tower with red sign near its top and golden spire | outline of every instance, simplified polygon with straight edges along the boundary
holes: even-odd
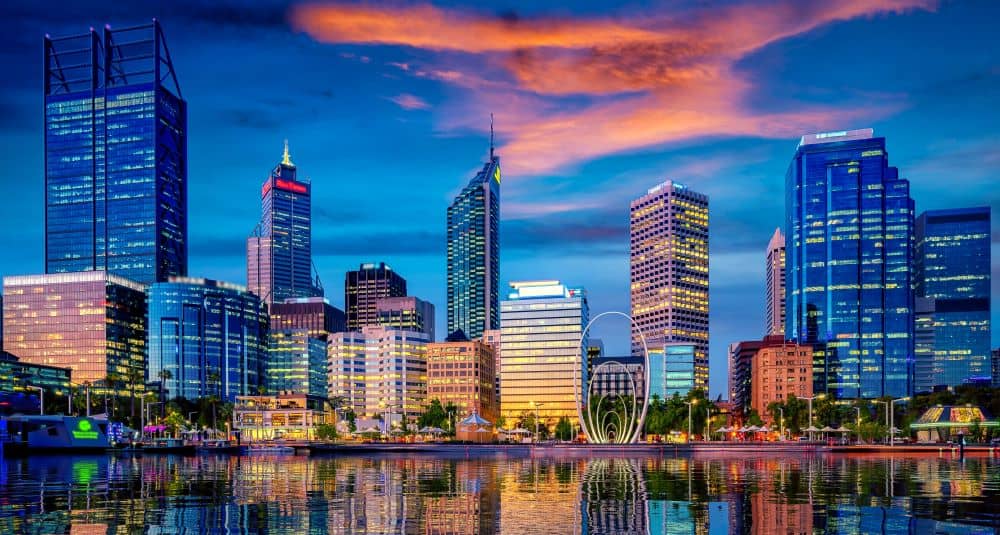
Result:
[[[319,280],[312,277],[312,184],[308,178],[299,180],[288,141],[260,199],[260,223],[247,238],[250,291],[268,304],[323,295]]]

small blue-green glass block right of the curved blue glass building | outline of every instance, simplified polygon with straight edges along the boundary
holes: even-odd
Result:
[[[265,377],[272,394],[308,394],[326,397],[327,342],[308,329],[271,331]]]

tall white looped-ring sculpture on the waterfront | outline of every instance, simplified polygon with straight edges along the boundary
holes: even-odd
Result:
[[[593,375],[588,378],[587,384],[584,385],[583,389],[580,388],[579,369],[573,370],[573,392],[576,397],[576,413],[580,420],[580,429],[583,431],[584,436],[587,437],[587,442],[592,444],[632,444],[639,440],[639,435],[642,433],[642,426],[646,422],[646,410],[649,408],[649,348],[646,346],[646,337],[642,335],[642,330],[639,329],[639,325],[631,316],[624,312],[602,312],[594,316],[580,334],[581,362],[585,361],[586,352],[586,348],[583,347],[583,341],[587,338],[587,333],[590,332],[590,327],[594,322],[604,316],[622,316],[628,318],[632,326],[635,327],[636,332],[639,333],[639,339],[642,341],[642,368],[645,376],[645,381],[643,381],[645,391],[642,393],[642,411],[639,411],[637,403],[640,393],[637,391],[638,388],[631,374],[627,374],[629,379],[628,384],[631,385],[632,391],[631,407],[623,407],[621,405],[615,407],[614,404],[621,401],[620,399],[609,400],[603,396],[598,397],[596,402],[592,402],[594,379],[600,375],[600,372],[614,370],[616,366],[623,370],[625,369],[625,366],[621,363],[609,361],[602,363],[593,370]],[[581,390],[586,393],[584,399],[580,399]]]

